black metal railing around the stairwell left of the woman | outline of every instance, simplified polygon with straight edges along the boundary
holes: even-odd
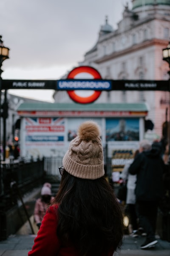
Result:
[[[32,191],[35,191],[36,188],[39,191],[38,189],[44,182],[52,181],[51,183],[55,185],[54,192],[57,192],[60,179],[58,167],[61,165],[61,157],[31,158],[17,161],[6,160],[1,162],[0,240],[6,239],[11,233],[15,233],[23,225],[24,221],[29,221],[29,217],[33,212],[34,198],[31,197]],[[25,200],[23,200],[24,196],[26,196]],[[29,198],[29,200],[26,201],[26,198]],[[26,205],[29,205],[29,207],[26,208]],[[11,215],[14,219],[14,224],[12,225]],[[32,233],[34,233],[33,229]]]

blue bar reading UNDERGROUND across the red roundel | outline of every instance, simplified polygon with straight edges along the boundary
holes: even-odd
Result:
[[[57,81],[57,90],[111,90],[111,80],[62,79]]]

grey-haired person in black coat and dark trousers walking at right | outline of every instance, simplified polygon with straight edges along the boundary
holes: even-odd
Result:
[[[147,140],[139,143],[139,154],[129,167],[129,173],[137,175],[136,179],[136,210],[139,223],[146,232],[146,240],[141,249],[153,247],[156,240],[156,218],[159,201],[163,196],[164,162],[161,157],[159,143],[152,147]]]

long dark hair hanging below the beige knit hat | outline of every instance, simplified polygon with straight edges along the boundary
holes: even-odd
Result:
[[[108,255],[122,245],[123,217],[105,177],[86,180],[64,170],[54,204],[59,204],[57,236],[82,256]]]

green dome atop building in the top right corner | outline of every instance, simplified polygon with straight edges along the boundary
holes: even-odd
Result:
[[[136,9],[142,6],[152,5],[168,5],[170,6],[170,0],[132,0],[132,9]]]

